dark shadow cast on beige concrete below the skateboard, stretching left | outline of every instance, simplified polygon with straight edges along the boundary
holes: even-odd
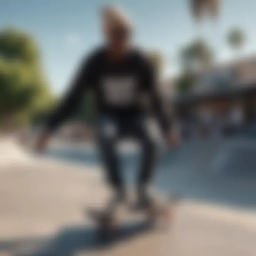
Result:
[[[118,235],[112,238],[101,236],[93,226],[69,226],[52,237],[0,241],[0,255],[73,256],[79,252],[103,250],[148,231],[152,231],[152,227],[143,221],[123,225]]]

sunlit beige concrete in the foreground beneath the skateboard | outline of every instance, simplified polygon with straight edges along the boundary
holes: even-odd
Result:
[[[84,214],[110,193],[97,168],[38,160],[0,172],[0,255],[254,256],[254,211],[184,201],[166,229],[124,224],[111,243]]]

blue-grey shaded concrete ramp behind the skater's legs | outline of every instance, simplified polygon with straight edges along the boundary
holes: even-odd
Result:
[[[119,163],[123,176],[134,185],[140,154],[123,150]],[[55,146],[48,156],[81,166],[101,167],[97,150]],[[154,186],[185,198],[235,207],[256,207],[256,140],[253,138],[208,138],[184,142],[177,150],[161,150]]]

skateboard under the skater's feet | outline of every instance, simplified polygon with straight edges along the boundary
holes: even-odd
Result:
[[[158,223],[169,226],[175,214],[175,207],[180,198],[171,195],[161,200],[156,199],[154,204],[146,209],[132,210],[128,203],[116,206],[112,210],[87,209],[87,215],[96,224],[97,231],[104,236],[113,237],[127,233],[129,227],[136,227],[142,231],[155,228]],[[168,224],[168,225],[167,225]]]

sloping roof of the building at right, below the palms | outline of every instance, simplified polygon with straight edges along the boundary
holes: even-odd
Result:
[[[178,95],[175,82],[176,79],[170,82],[170,98],[175,102],[256,93],[256,56],[218,63],[198,72],[192,91],[186,95]]]

